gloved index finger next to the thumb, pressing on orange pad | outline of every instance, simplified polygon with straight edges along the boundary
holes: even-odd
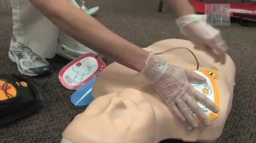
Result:
[[[218,106],[216,106],[212,100],[208,99],[206,95],[201,94],[200,92],[196,91],[195,89],[193,90],[194,95],[195,95],[195,100],[198,100],[206,106],[208,109],[210,109],[212,112],[218,112]]]

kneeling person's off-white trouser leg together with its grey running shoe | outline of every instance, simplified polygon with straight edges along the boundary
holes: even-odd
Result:
[[[13,34],[9,58],[27,76],[51,72],[44,58],[55,55],[58,29],[27,0],[11,0]]]

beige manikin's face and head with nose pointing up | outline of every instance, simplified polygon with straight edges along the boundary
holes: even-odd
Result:
[[[151,143],[155,125],[154,109],[148,100],[136,89],[125,89],[92,102],[63,135],[75,143]]]

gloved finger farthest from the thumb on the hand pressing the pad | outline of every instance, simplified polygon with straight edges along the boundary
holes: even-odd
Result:
[[[192,113],[189,110],[189,107],[183,100],[179,100],[176,102],[177,108],[183,114],[183,117],[186,118],[186,121],[193,127],[197,128],[198,123],[195,120],[195,117],[192,116]]]

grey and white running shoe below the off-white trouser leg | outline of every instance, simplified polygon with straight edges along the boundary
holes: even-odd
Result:
[[[52,72],[48,61],[33,53],[32,49],[21,43],[15,43],[13,40],[9,47],[9,59],[14,61],[19,72],[26,76],[43,76]]]

